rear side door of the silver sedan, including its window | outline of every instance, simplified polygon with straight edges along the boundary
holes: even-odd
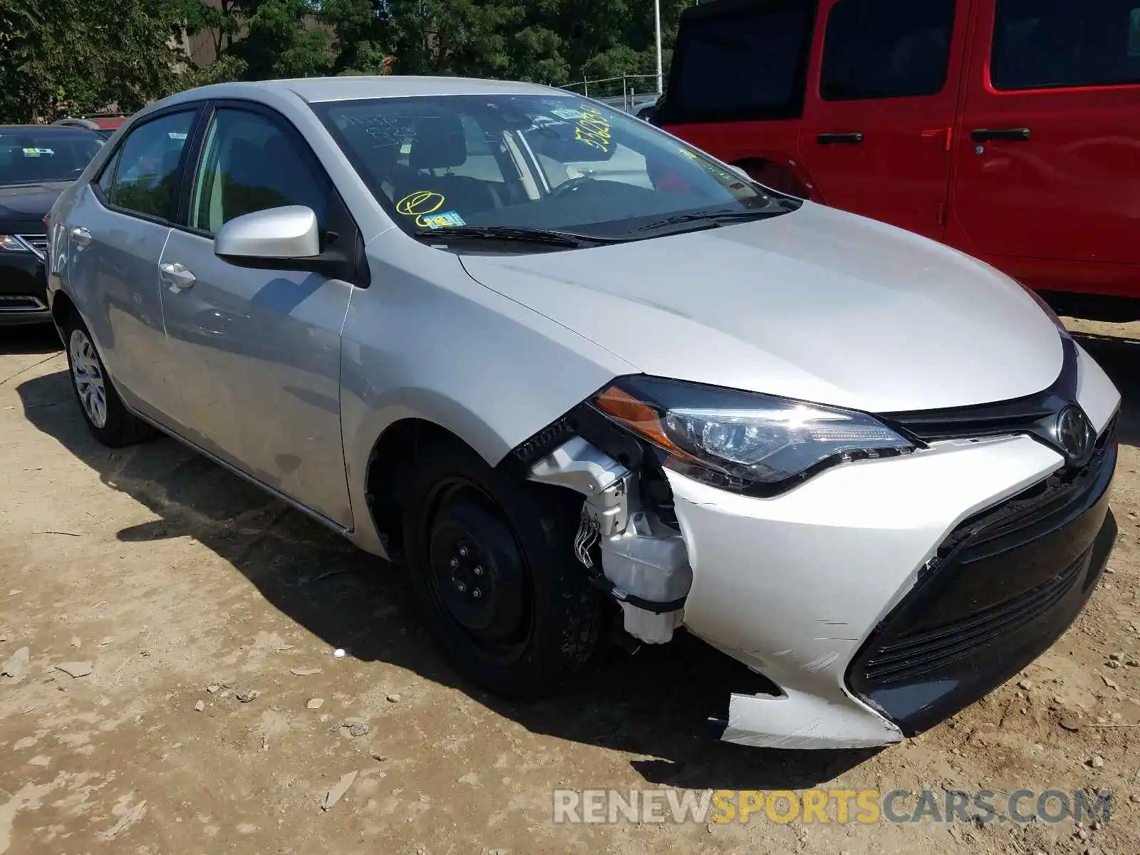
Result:
[[[68,211],[65,269],[80,311],[127,402],[164,420],[170,406],[158,260],[197,109],[147,117]]]

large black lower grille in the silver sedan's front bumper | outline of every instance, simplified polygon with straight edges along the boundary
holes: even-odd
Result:
[[[966,520],[847,670],[852,691],[907,734],[936,724],[1041,654],[1108,560],[1116,426],[1090,462]]]

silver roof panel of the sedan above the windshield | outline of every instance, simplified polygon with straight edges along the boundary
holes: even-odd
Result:
[[[243,83],[217,83],[190,89],[166,98],[162,104],[176,104],[201,98],[243,97],[262,92],[290,92],[309,104],[363,98],[408,98],[439,95],[551,95],[560,89],[538,83],[514,83],[477,78],[416,78],[402,75],[299,78]]]

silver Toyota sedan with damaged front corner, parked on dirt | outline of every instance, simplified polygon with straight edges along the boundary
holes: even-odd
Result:
[[[1049,646],[1113,545],[1119,396],[1032,293],[561,90],[182,92],[48,243],[100,441],[172,434],[401,560],[503,694],[612,620],[771,681],[725,740],[893,742]]]

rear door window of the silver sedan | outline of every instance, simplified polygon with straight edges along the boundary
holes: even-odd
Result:
[[[119,168],[107,194],[112,205],[147,217],[170,217],[194,116],[193,109],[170,113],[130,132],[121,146]]]

